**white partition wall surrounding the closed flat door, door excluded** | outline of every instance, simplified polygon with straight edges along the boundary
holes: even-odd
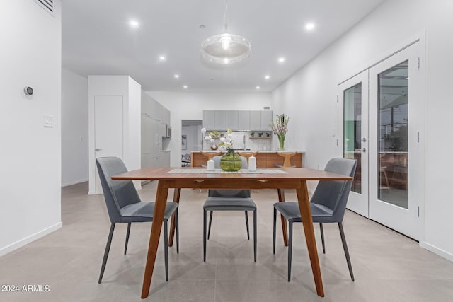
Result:
[[[130,76],[88,76],[88,194],[95,194],[94,98],[96,95],[122,96],[122,161],[128,170],[141,168],[142,161],[142,92],[140,84]],[[139,183],[136,181],[135,187],[139,188]]]

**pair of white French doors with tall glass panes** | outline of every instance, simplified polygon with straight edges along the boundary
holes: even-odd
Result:
[[[357,159],[348,208],[415,239],[424,169],[419,44],[338,86],[343,156]]]

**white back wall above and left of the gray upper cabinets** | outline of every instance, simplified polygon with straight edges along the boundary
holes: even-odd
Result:
[[[171,166],[181,162],[181,120],[202,120],[203,110],[263,110],[270,106],[270,93],[147,91],[171,112]],[[272,108],[271,108],[272,110]],[[187,150],[188,153],[192,150]]]

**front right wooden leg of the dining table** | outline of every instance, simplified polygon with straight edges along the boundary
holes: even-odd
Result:
[[[306,248],[309,252],[311,271],[313,272],[314,284],[318,296],[324,296],[323,280],[321,278],[321,269],[319,267],[318,250],[316,248],[316,239],[314,237],[313,219],[311,219],[309,191],[306,188],[306,181],[302,181],[302,186],[297,192],[297,202],[299,202],[300,214],[304,225]]]

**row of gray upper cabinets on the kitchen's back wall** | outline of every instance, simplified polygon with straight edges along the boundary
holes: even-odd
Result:
[[[272,111],[203,110],[203,127],[218,131],[270,131],[272,116]]]

